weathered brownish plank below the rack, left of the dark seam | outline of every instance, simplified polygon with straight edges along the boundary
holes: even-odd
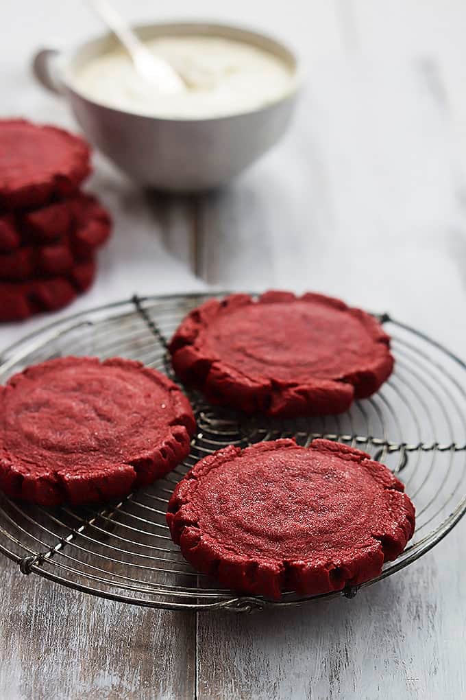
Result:
[[[196,620],[87,596],[0,557],[5,700],[194,697]]]

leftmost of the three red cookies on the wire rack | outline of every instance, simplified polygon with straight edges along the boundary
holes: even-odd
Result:
[[[163,374],[66,357],[0,387],[0,487],[40,505],[121,498],[189,453],[196,423]]]

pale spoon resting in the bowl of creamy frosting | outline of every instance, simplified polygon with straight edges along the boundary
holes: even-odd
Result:
[[[119,38],[129,53],[136,71],[147,83],[162,92],[182,92],[186,90],[184,80],[170,64],[146,48],[134,31],[108,0],[89,0],[90,5]]]

